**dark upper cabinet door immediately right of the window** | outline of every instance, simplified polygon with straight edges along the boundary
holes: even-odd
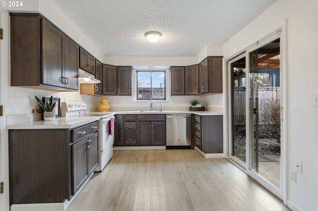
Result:
[[[171,95],[185,94],[184,67],[170,67]]]

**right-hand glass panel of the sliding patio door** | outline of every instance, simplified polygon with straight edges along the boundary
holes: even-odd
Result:
[[[280,173],[280,39],[249,53],[250,167],[277,188]]]

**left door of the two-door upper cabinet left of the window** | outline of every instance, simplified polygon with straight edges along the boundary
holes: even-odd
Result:
[[[103,95],[117,94],[117,71],[116,67],[103,64]]]

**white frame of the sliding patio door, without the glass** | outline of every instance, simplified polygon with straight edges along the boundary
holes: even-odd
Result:
[[[248,80],[248,74],[249,74],[249,53],[260,48],[261,46],[264,46],[268,44],[271,41],[274,41],[276,39],[280,38],[280,75],[281,75],[281,110],[280,110],[280,117],[281,117],[281,187],[278,189],[274,185],[270,184],[266,180],[264,180],[259,175],[255,174],[251,170],[251,159],[250,159],[250,120],[249,120],[249,80]],[[286,107],[286,63],[287,63],[287,49],[286,49],[286,20],[279,24],[279,26],[276,28],[276,30],[271,30],[271,33],[268,33],[267,36],[263,37],[259,41],[255,42],[254,44],[246,47],[239,53],[227,58],[226,64],[225,64],[225,114],[226,114],[226,128],[227,131],[225,132],[225,139],[226,139],[226,156],[227,158],[236,166],[238,166],[243,172],[245,172],[247,175],[251,176],[253,179],[255,179],[258,183],[260,183],[263,187],[268,189],[270,192],[272,192],[274,195],[276,195],[278,198],[282,199],[284,204],[287,204],[286,200],[286,183],[289,177],[286,174],[286,161],[287,161],[287,155],[286,155],[286,109],[283,109]],[[244,54],[245,56],[245,67],[246,67],[246,165],[241,165],[241,163],[238,162],[233,156],[231,156],[231,141],[232,141],[232,99],[231,99],[231,74],[232,70],[230,68],[230,63],[233,62],[235,59],[239,59]],[[284,121],[283,121],[284,120]]]

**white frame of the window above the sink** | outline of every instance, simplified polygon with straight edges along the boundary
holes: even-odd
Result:
[[[150,73],[150,98],[138,98],[139,96],[139,89],[138,89],[138,83],[139,83],[139,80],[138,80],[138,73],[140,72],[144,72],[144,73]],[[154,72],[162,72],[164,74],[164,77],[163,77],[163,83],[164,83],[164,86],[163,86],[163,96],[164,98],[153,98],[153,73]],[[166,70],[136,70],[136,101],[166,101],[167,97],[166,97],[166,73],[167,71]]]

